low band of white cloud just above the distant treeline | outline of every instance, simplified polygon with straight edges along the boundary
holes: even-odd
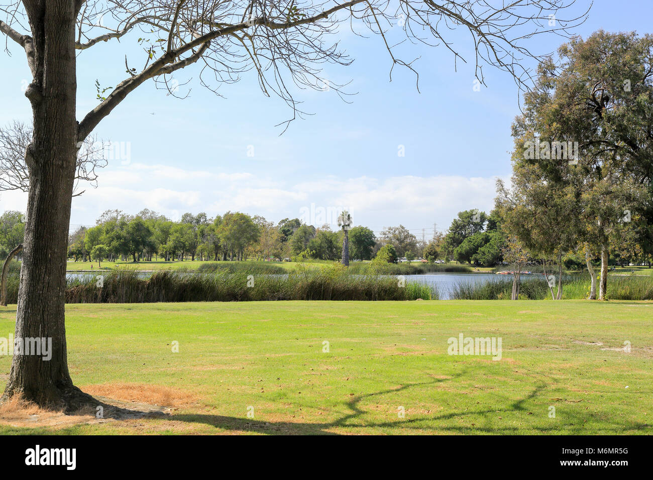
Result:
[[[71,227],[92,225],[104,210],[114,208],[130,214],[149,208],[171,218],[184,212],[215,216],[232,210],[272,221],[302,217],[311,208],[313,212],[349,208],[356,225],[374,231],[400,223],[409,229],[432,229],[434,222],[445,230],[461,210],[491,210],[495,182],[496,178],[445,175],[325,176],[294,182],[250,172],[214,173],[136,163],[101,172],[97,189],[87,188],[74,198]],[[3,192],[0,210],[24,211],[26,203],[22,192]],[[323,217],[317,212],[315,219],[321,223]],[[335,219],[330,216],[328,221]]]

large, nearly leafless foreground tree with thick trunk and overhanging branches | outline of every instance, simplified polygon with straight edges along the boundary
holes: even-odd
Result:
[[[492,5],[492,4],[496,5]],[[64,290],[71,197],[78,142],[138,86],[150,79],[173,95],[174,72],[199,63],[200,84],[217,93],[248,71],[265,95],[278,95],[300,116],[293,91],[319,89],[324,63],[348,65],[340,50],[339,25],[377,34],[395,65],[415,72],[415,60],[400,58],[411,44],[442,44],[464,60],[445,37],[452,29],[470,34],[476,76],[483,66],[529,82],[524,60],[539,60],[528,39],[543,33],[568,35],[586,12],[563,20],[575,0],[16,0],[0,3],[6,48],[25,51],[33,80],[25,96],[33,110],[33,134],[25,150],[29,170],[24,263],[16,315],[16,337],[52,338],[52,359],[21,355],[12,360],[5,398],[21,392],[38,404],[76,408],[93,399],[74,387],[67,367]],[[567,12],[571,10],[566,10]],[[106,26],[105,26],[106,25]],[[400,29],[390,27],[400,25]],[[401,35],[404,40],[397,40]],[[100,42],[140,44],[125,55],[125,79],[82,120],[76,119],[76,56]],[[408,40],[407,42],[405,40]],[[126,52],[127,52],[126,51]],[[134,67],[134,65],[142,67]],[[114,66],[114,69],[118,67]],[[390,76],[391,78],[391,76]],[[341,93],[342,86],[329,84]]]

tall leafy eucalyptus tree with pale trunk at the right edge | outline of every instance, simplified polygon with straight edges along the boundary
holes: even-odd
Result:
[[[522,153],[514,171],[534,166],[539,182],[555,185],[549,191],[573,197],[562,218],[581,221],[592,291],[600,251],[603,299],[611,237],[635,212],[652,212],[653,36],[597,31],[562,45],[558,62],[538,70],[513,125]]]

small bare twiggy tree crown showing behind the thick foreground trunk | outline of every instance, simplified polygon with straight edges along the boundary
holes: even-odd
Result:
[[[7,127],[0,127],[0,191],[29,191],[29,169],[25,165],[25,150],[31,142],[32,129],[20,121],[14,121]],[[78,197],[80,180],[97,188],[95,168],[106,167],[108,160],[104,155],[106,144],[97,138],[88,136],[77,152],[77,171],[72,196]]]

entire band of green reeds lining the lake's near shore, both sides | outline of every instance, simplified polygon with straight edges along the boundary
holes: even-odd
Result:
[[[76,276],[67,282],[68,303],[144,303],[144,302],[232,302],[249,300],[439,300],[438,289],[417,281],[399,281],[387,268],[370,268],[365,274],[358,268],[340,264],[324,268],[296,268],[291,272],[274,265],[274,273],[257,270],[215,272],[177,272],[161,270],[148,278],[134,270],[114,270],[103,274],[101,287],[97,275]],[[383,266],[385,267],[385,266]],[[258,268],[254,266],[253,268]],[[390,269],[394,270],[392,266]],[[396,270],[395,270],[396,271]],[[402,274],[402,273],[400,273]],[[404,273],[406,274],[405,270]],[[18,301],[20,263],[9,266],[7,299]],[[513,278],[505,276],[489,281],[459,281],[453,286],[454,300],[509,300]],[[556,291],[556,289],[554,289]],[[564,299],[587,298],[588,274],[563,277]],[[543,276],[522,276],[520,298],[551,298]],[[653,300],[653,277],[611,275],[608,300]]]

